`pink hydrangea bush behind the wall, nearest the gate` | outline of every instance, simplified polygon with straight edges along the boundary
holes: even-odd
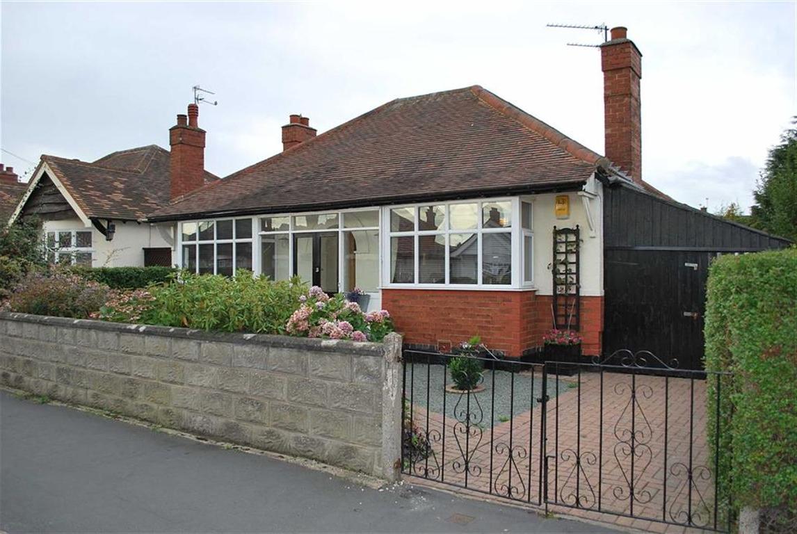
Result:
[[[343,295],[328,296],[317,285],[299,297],[285,331],[292,336],[329,337],[333,340],[382,341],[393,332],[386,310],[363,313],[359,304]]]

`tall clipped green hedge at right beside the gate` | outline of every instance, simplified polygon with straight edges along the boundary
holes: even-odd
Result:
[[[724,256],[709,271],[705,320],[709,440],[732,507],[797,503],[797,249]]]

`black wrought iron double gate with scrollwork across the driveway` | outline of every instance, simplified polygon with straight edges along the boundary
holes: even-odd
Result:
[[[552,511],[728,532],[717,476],[727,374],[650,352],[580,366],[478,359],[477,388],[456,391],[456,355],[405,351],[402,473]]]

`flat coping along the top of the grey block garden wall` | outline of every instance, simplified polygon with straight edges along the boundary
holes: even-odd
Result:
[[[213,341],[216,343],[267,345],[269,347],[296,348],[308,351],[345,351],[349,354],[370,356],[383,356],[385,353],[384,344],[373,342],[326,340],[293,336],[273,336],[269,334],[251,334],[243,332],[207,332],[205,330],[195,330],[193,328],[156,326],[154,324],[112,323],[102,320],[41,316],[17,312],[0,312],[0,320],[13,320],[22,323],[45,324],[69,328],[88,328],[102,332],[149,334],[151,336],[164,336],[198,341]]]

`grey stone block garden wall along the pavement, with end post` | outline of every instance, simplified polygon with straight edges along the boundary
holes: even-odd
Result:
[[[394,480],[401,347],[0,312],[0,384]]]

